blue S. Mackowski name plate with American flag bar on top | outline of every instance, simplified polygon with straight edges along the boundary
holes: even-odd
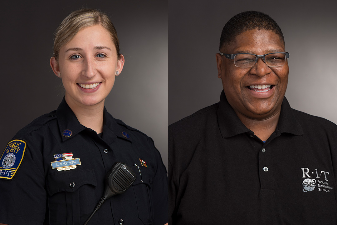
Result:
[[[58,171],[75,169],[76,166],[81,165],[81,160],[79,158],[74,159],[72,152],[55,154],[54,159],[55,162],[51,162],[52,169],[57,169]]]

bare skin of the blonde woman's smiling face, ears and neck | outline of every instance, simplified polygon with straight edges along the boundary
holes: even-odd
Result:
[[[62,78],[65,101],[80,123],[97,133],[102,132],[103,120],[88,120],[81,112],[94,107],[102,116],[104,100],[124,65],[113,41],[116,37],[100,24],[82,28],[50,60],[55,75]]]

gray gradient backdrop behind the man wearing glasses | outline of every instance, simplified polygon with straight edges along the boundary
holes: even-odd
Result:
[[[337,123],[336,1],[170,0],[169,8],[169,124],[219,101],[221,31],[246,10],[267,13],[283,32],[290,53],[285,96],[292,108]]]

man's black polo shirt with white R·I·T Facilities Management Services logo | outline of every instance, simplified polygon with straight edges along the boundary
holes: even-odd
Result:
[[[170,224],[336,224],[337,126],[284,98],[264,143],[220,102],[169,126]]]

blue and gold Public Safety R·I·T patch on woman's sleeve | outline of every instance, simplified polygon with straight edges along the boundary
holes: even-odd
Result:
[[[25,156],[26,142],[15,139],[8,143],[0,159],[0,179],[11,180]]]

